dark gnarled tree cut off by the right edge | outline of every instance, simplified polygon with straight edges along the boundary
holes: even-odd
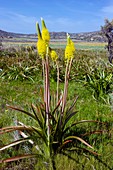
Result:
[[[105,25],[101,27],[101,31],[107,38],[108,45],[107,50],[109,52],[108,60],[112,63],[113,60],[113,20],[110,22],[108,19],[105,20]]]

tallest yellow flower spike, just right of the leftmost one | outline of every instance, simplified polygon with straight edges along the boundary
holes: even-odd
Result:
[[[50,41],[50,34],[48,29],[46,28],[46,24],[43,18],[41,18],[41,23],[42,23],[42,39],[49,44]]]

